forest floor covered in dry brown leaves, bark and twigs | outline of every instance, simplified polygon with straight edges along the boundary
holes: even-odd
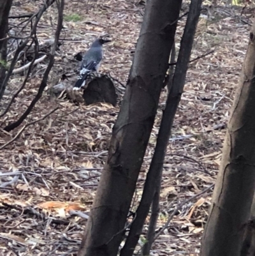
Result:
[[[33,13],[39,7],[38,1],[22,0],[11,9],[11,15]],[[184,4],[182,13],[186,11]],[[201,16],[191,59],[214,52],[189,65],[164,162],[157,230],[181,202],[215,182],[226,123],[249,41],[250,11],[222,5],[212,10],[210,19],[205,19],[206,13]],[[100,72],[110,72],[126,84],[143,13],[143,1],[66,1],[62,46],[47,90],[57,84],[62,74],[74,72],[78,68],[75,54],[87,50],[94,38],[105,33],[110,34],[112,42],[105,46]],[[16,22],[17,19],[11,19],[10,25]],[[177,52],[185,22],[185,17],[179,21]],[[51,38],[52,25],[56,24],[57,8],[53,5],[43,15],[38,39]],[[8,114],[1,118],[1,128],[27,108],[46,67],[47,61],[36,66],[25,89]],[[20,75],[11,77],[10,94],[4,96],[2,109],[23,79]],[[120,102],[123,88],[118,82],[115,86],[119,88]],[[166,93],[164,89],[161,94],[133,211],[142,195]],[[59,109],[53,114],[31,124],[5,145],[24,124],[47,115],[56,107]],[[0,255],[77,255],[87,222],[84,217],[89,214],[118,112],[119,104],[117,107],[106,103],[75,105],[67,99],[52,98],[46,91],[24,124],[10,133],[0,130],[1,182],[10,182],[9,186],[0,186]],[[211,196],[212,192],[207,192],[180,208],[168,229],[154,243],[153,255],[198,255]],[[81,211],[87,215],[80,215]],[[144,234],[146,230],[147,226]]]

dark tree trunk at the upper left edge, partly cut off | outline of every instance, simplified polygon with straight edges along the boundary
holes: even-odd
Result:
[[[0,101],[3,98],[5,86],[3,86],[3,81],[6,68],[6,58],[7,58],[7,39],[6,35],[8,33],[8,16],[11,9],[12,0],[0,0]]]

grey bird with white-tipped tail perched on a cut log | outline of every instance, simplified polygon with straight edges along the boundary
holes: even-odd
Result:
[[[82,58],[80,75],[78,76],[73,90],[79,90],[81,87],[85,86],[86,79],[90,73],[98,72],[103,58],[103,44],[108,43],[109,41],[111,40],[98,38],[92,43],[91,48],[84,54],[84,57]]]

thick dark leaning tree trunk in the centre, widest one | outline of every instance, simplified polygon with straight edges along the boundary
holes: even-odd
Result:
[[[119,250],[168,70],[180,3],[147,1],[128,86],[79,256],[114,256]]]

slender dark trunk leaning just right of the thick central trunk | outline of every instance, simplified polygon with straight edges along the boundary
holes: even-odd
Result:
[[[166,107],[161,120],[161,126],[159,128],[159,134],[157,136],[155,153],[152,157],[152,162],[150,163],[150,169],[145,181],[142,199],[136,211],[136,218],[131,225],[128,238],[120,256],[133,255],[133,250],[138,242],[140,234],[142,233],[143,223],[149,213],[150,204],[152,203],[156,186],[161,182],[164,155],[166,153],[166,147],[168,146],[173,119],[185,84],[189,57],[191,56],[194,34],[196,32],[196,25],[198,24],[198,19],[200,17],[201,2],[202,0],[191,1],[189,16],[187,17],[186,27],[180,42],[181,48],[177,59],[175,74],[173,75],[173,84],[168,94]]]

